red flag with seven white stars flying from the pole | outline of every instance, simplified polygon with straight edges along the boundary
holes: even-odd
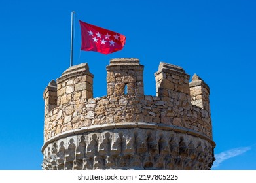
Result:
[[[81,50],[110,54],[122,50],[126,37],[79,20],[82,34]]]

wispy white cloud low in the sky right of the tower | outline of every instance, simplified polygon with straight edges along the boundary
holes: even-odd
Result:
[[[229,158],[233,158],[235,156],[239,156],[240,154],[244,154],[248,150],[251,150],[251,146],[249,147],[240,147],[227,150],[225,152],[221,152],[219,154],[215,154],[215,162],[213,164],[213,168],[219,167],[221,163]]]

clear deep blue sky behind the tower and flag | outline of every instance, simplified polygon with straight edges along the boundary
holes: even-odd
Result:
[[[155,94],[160,61],[196,73],[210,86],[213,169],[256,169],[255,1],[1,1],[0,169],[41,169],[43,90],[69,67],[88,62],[94,97],[106,95],[109,59],[139,58],[145,94]],[[78,20],[126,36],[109,55],[81,52]]]

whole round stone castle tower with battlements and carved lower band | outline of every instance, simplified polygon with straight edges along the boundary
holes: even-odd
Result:
[[[160,63],[156,96],[144,95],[143,65],[111,59],[107,96],[93,98],[87,63],[45,88],[43,169],[210,169],[210,89],[197,75]]]

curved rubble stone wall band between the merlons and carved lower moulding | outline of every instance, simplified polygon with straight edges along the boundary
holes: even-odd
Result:
[[[208,112],[187,103],[184,95],[175,98],[134,96],[101,97],[54,108],[45,118],[45,141],[65,131],[92,125],[139,123],[175,125],[212,137]]]

